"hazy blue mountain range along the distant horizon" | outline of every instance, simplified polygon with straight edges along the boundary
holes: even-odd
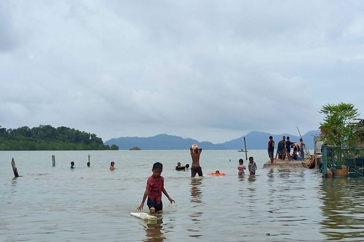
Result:
[[[318,130],[310,131],[302,136],[306,143],[306,147],[313,149],[313,136],[319,134]],[[300,137],[290,134],[273,135],[264,132],[252,131],[245,135],[246,148],[249,149],[266,149],[268,147],[269,136],[273,136],[273,140],[278,143],[282,136],[289,136],[291,141],[299,143]],[[118,145],[119,149],[130,149],[139,147],[141,149],[189,149],[191,144],[198,144],[204,149],[244,149],[244,136],[226,141],[221,144],[213,144],[209,141],[199,142],[195,139],[182,138],[175,135],[160,134],[153,137],[120,137],[110,139],[105,142],[105,145]]]

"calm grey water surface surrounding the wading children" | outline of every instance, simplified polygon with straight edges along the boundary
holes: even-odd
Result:
[[[265,150],[248,156],[257,163],[256,176],[238,176],[245,153],[203,150],[203,173],[227,175],[191,179],[189,170],[174,170],[177,162],[191,164],[189,150],[1,151],[0,240],[362,241],[363,179],[323,179],[315,169],[263,169]],[[13,178],[12,157],[23,177]],[[170,205],[163,195],[165,212],[153,224],[130,212],[140,205],[157,161],[176,202]]]

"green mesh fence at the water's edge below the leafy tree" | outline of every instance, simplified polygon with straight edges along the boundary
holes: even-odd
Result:
[[[331,171],[340,170],[343,166],[348,168],[349,177],[364,176],[364,149],[357,147],[322,146],[323,177],[328,176]],[[335,177],[335,173],[333,173]]]

